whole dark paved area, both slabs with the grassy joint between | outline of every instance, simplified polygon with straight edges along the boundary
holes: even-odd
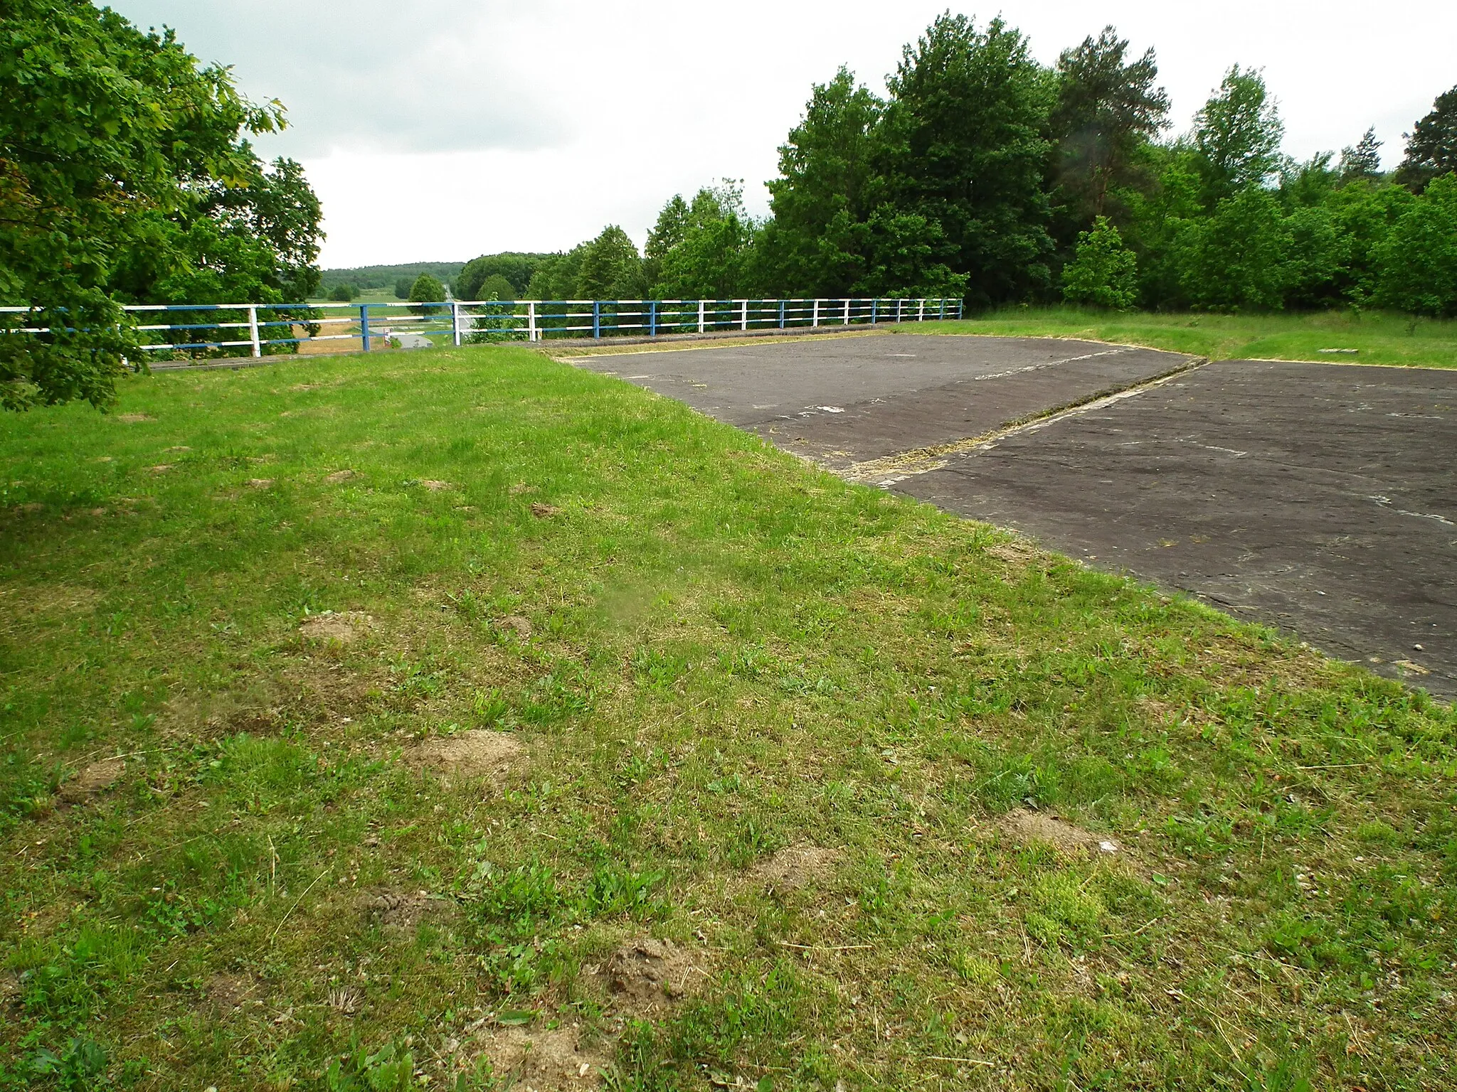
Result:
[[[1457,370],[908,333],[573,363],[1457,696]]]

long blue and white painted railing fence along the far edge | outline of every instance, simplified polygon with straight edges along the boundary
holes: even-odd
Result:
[[[372,352],[487,341],[660,338],[726,331],[879,326],[960,319],[962,300],[441,300],[440,303],[136,304],[156,360]],[[26,307],[0,313],[35,314]],[[162,322],[168,319],[168,322]],[[179,320],[181,319],[181,320]],[[22,319],[23,320],[23,319]],[[10,332],[48,333],[45,326]]]

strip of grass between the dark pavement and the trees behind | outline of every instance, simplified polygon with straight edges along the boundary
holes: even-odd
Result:
[[[908,328],[915,331],[915,326]],[[1081,307],[1010,307],[928,332],[1090,338],[1190,352],[1209,360],[1314,360],[1332,364],[1457,367],[1457,322],[1407,314],[1154,314]],[[1323,354],[1320,349],[1358,349]]]

